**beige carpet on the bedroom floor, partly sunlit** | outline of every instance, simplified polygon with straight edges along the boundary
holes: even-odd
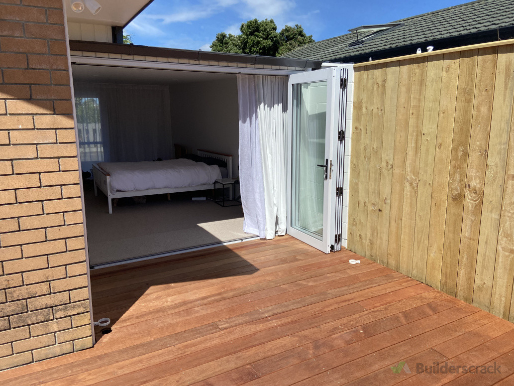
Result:
[[[109,215],[105,196],[84,190],[91,266],[254,236],[243,232],[241,206],[191,200],[205,192],[174,194],[171,201],[149,196],[139,204],[122,199]]]

